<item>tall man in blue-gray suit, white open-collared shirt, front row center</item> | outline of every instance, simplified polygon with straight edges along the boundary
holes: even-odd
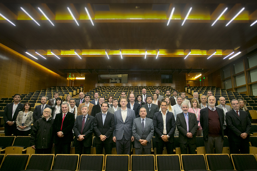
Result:
[[[115,129],[113,141],[116,143],[117,154],[130,154],[133,121],[136,118],[133,109],[127,108],[127,97],[121,97],[121,109],[114,112]]]

